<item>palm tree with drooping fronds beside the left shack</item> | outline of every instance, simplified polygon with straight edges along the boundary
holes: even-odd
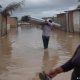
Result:
[[[21,1],[19,3],[13,2],[13,3],[10,3],[8,6],[6,6],[6,8],[4,10],[1,11],[2,23],[3,23],[4,18],[6,20],[6,25],[5,25],[6,26],[6,31],[5,31],[5,34],[7,34],[7,16],[10,16],[10,12],[12,13],[12,11],[14,11],[14,10],[18,9],[19,7],[21,7],[22,4],[23,4],[23,1]]]

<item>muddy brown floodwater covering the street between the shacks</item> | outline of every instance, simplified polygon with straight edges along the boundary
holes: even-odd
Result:
[[[80,43],[79,35],[54,30],[45,52],[41,34],[38,28],[18,27],[0,39],[0,80],[39,80],[39,72],[65,63]],[[53,80],[70,80],[71,72]]]

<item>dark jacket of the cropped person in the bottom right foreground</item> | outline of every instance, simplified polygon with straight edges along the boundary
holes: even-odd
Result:
[[[80,80],[80,45],[70,60],[61,66],[64,72],[73,69],[71,80]]]

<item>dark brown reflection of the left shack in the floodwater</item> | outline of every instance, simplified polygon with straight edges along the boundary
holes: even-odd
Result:
[[[0,75],[8,71],[11,57],[11,43],[7,37],[0,39]]]

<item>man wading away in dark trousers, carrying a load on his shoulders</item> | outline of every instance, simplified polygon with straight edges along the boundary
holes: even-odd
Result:
[[[49,39],[51,35],[52,30],[52,20],[45,20],[45,23],[42,24],[42,40],[43,40],[43,46],[44,49],[48,48]]]

